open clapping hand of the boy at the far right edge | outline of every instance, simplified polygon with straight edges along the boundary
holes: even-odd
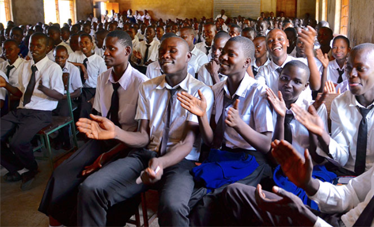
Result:
[[[322,136],[322,133],[325,130],[324,124],[313,105],[309,106],[308,111],[302,109],[296,104],[291,104],[291,106],[292,111],[296,114],[296,120],[304,125],[304,127],[311,133],[314,133],[317,136]]]

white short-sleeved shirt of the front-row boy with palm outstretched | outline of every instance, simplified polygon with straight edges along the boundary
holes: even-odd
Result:
[[[139,91],[138,110],[135,119],[149,120],[150,142],[147,146],[147,149],[149,150],[156,152],[159,150],[162,133],[164,131],[164,121],[166,120],[164,115],[166,114],[170,97],[169,89],[176,87],[180,87],[178,92],[183,90],[197,98],[199,98],[198,90],[200,89],[206,99],[206,115],[210,118],[214,102],[213,91],[208,86],[196,80],[191,74],[188,73],[186,78],[174,87],[171,87],[166,82],[165,75],[144,82]],[[169,141],[166,152],[169,152],[173,145],[182,139],[188,121],[199,123],[198,117],[181,107],[176,96],[174,98],[174,106],[172,107],[170,118]],[[199,159],[198,150],[200,142],[201,139],[197,138],[194,147],[186,156],[186,159],[193,161]]]

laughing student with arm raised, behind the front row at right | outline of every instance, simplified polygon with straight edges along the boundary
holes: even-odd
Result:
[[[309,28],[309,27],[308,27]],[[278,80],[281,69],[284,65],[291,60],[300,60],[308,64],[311,71],[311,76],[309,78],[310,88],[305,89],[301,95],[312,99],[313,90],[318,90],[320,88],[320,73],[316,66],[316,60],[313,53],[313,44],[315,37],[315,30],[309,28],[309,31],[303,30],[299,34],[300,39],[306,45],[306,55],[307,60],[303,58],[294,58],[287,55],[288,39],[286,33],[278,28],[274,28],[266,36],[267,50],[271,57],[271,62],[260,68],[256,75],[256,79],[263,84],[266,84],[274,92],[278,92]]]

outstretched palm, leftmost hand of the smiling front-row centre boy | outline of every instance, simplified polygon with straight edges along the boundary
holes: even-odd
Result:
[[[89,114],[91,119],[79,118],[76,125],[81,133],[89,139],[109,140],[115,139],[115,124],[106,117]]]

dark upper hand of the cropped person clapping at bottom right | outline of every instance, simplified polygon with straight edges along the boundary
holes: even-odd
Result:
[[[297,187],[306,188],[312,180],[313,164],[308,149],[304,151],[304,158],[287,141],[275,140],[271,143],[271,154],[281,165],[288,179]]]

